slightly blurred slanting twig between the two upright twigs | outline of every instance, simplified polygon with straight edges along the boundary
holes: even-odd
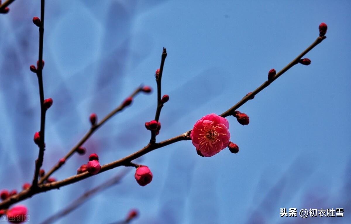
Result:
[[[130,95],[130,97],[134,97],[135,95],[137,95],[140,91],[143,90],[143,86],[139,86],[137,89],[134,90],[134,92]],[[80,141],[62,158],[64,158],[65,160],[67,160],[69,157],[72,156],[72,154],[74,152],[77,151],[77,149],[83,145],[85,143],[86,140],[88,140],[90,138],[90,136],[99,129],[99,127],[101,127],[108,119],[110,119],[111,117],[113,117],[116,113],[118,113],[119,111],[123,110],[124,108],[124,104],[121,103],[118,107],[116,107],[113,111],[111,111],[109,114],[106,115],[106,117],[104,117],[98,124],[91,126],[90,130],[85,134],[85,136],[80,139]],[[44,183],[44,181],[56,170],[58,170],[63,164],[57,163],[55,166],[53,166],[40,180],[39,180],[39,184]]]

